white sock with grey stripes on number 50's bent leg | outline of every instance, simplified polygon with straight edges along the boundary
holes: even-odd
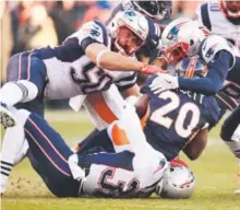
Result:
[[[13,106],[19,102],[29,102],[37,96],[37,86],[29,81],[7,82],[0,90],[1,102]]]

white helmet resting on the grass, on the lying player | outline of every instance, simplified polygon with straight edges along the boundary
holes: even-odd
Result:
[[[184,165],[170,165],[163,180],[156,187],[161,198],[184,199],[191,197],[195,186],[195,177]]]

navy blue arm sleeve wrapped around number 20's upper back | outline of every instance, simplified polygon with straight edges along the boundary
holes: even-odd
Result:
[[[215,57],[215,61],[208,63],[206,78],[179,78],[179,88],[205,95],[216,94],[223,88],[223,82],[227,77],[231,55],[228,51],[221,50]]]

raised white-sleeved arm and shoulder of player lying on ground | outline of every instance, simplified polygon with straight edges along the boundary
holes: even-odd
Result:
[[[124,129],[135,154],[133,170],[135,177],[140,180],[140,187],[144,188],[160,180],[167,167],[167,160],[147,143],[140,118],[132,105],[127,105],[119,122]],[[160,165],[161,161],[163,165]],[[159,168],[159,166],[163,166],[163,168]]]

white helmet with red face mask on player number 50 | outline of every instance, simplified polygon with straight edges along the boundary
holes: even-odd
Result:
[[[125,10],[112,19],[108,24],[108,31],[117,50],[131,56],[145,44],[149,26],[143,14]]]

